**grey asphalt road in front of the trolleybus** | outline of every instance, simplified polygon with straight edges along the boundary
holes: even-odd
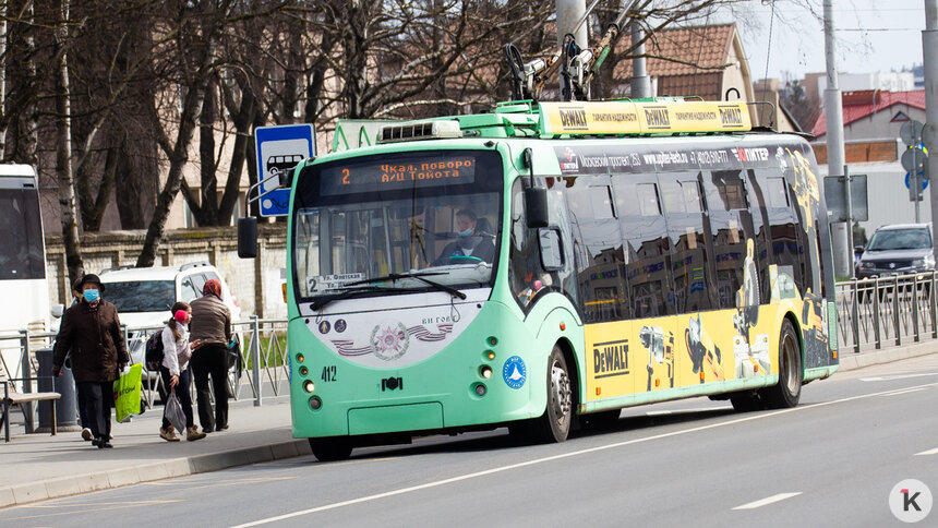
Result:
[[[563,444],[433,436],[12,507],[0,524],[906,526],[888,500],[910,478],[938,496],[936,404],[931,355],[811,383],[795,409],[673,401]],[[938,507],[919,526],[938,526]]]

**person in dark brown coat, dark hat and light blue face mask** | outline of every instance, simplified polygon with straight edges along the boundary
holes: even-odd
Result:
[[[82,301],[71,307],[62,317],[56,341],[52,374],[62,372],[65,355],[71,350],[72,374],[80,392],[85,394],[92,444],[98,448],[112,447],[111,407],[113,382],[130,362],[117,308],[101,300],[104,285],[97,275],[82,277]]]

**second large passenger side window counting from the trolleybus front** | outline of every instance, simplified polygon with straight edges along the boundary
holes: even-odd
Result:
[[[616,209],[623,212],[618,218],[623,241],[621,274],[624,272],[628,293],[627,315],[653,317],[675,313],[674,304],[668,302],[673,296],[671,243],[658,200],[658,178],[614,175],[612,184]],[[639,196],[637,207],[636,196]]]

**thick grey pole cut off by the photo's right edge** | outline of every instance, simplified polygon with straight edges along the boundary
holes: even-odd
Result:
[[[925,31],[922,32],[922,56],[925,59],[925,129],[922,132],[925,148],[926,173],[938,177],[938,0],[925,0]],[[936,154],[933,154],[936,153]],[[931,239],[938,223],[938,189],[931,188]]]

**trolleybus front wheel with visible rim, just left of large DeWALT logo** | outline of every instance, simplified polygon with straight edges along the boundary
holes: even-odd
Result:
[[[567,440],[574,417],[574,394],[567,362],[561,347],[554,345],[548,358],[548,408],[531,422],[531,440],[550,444]]]

